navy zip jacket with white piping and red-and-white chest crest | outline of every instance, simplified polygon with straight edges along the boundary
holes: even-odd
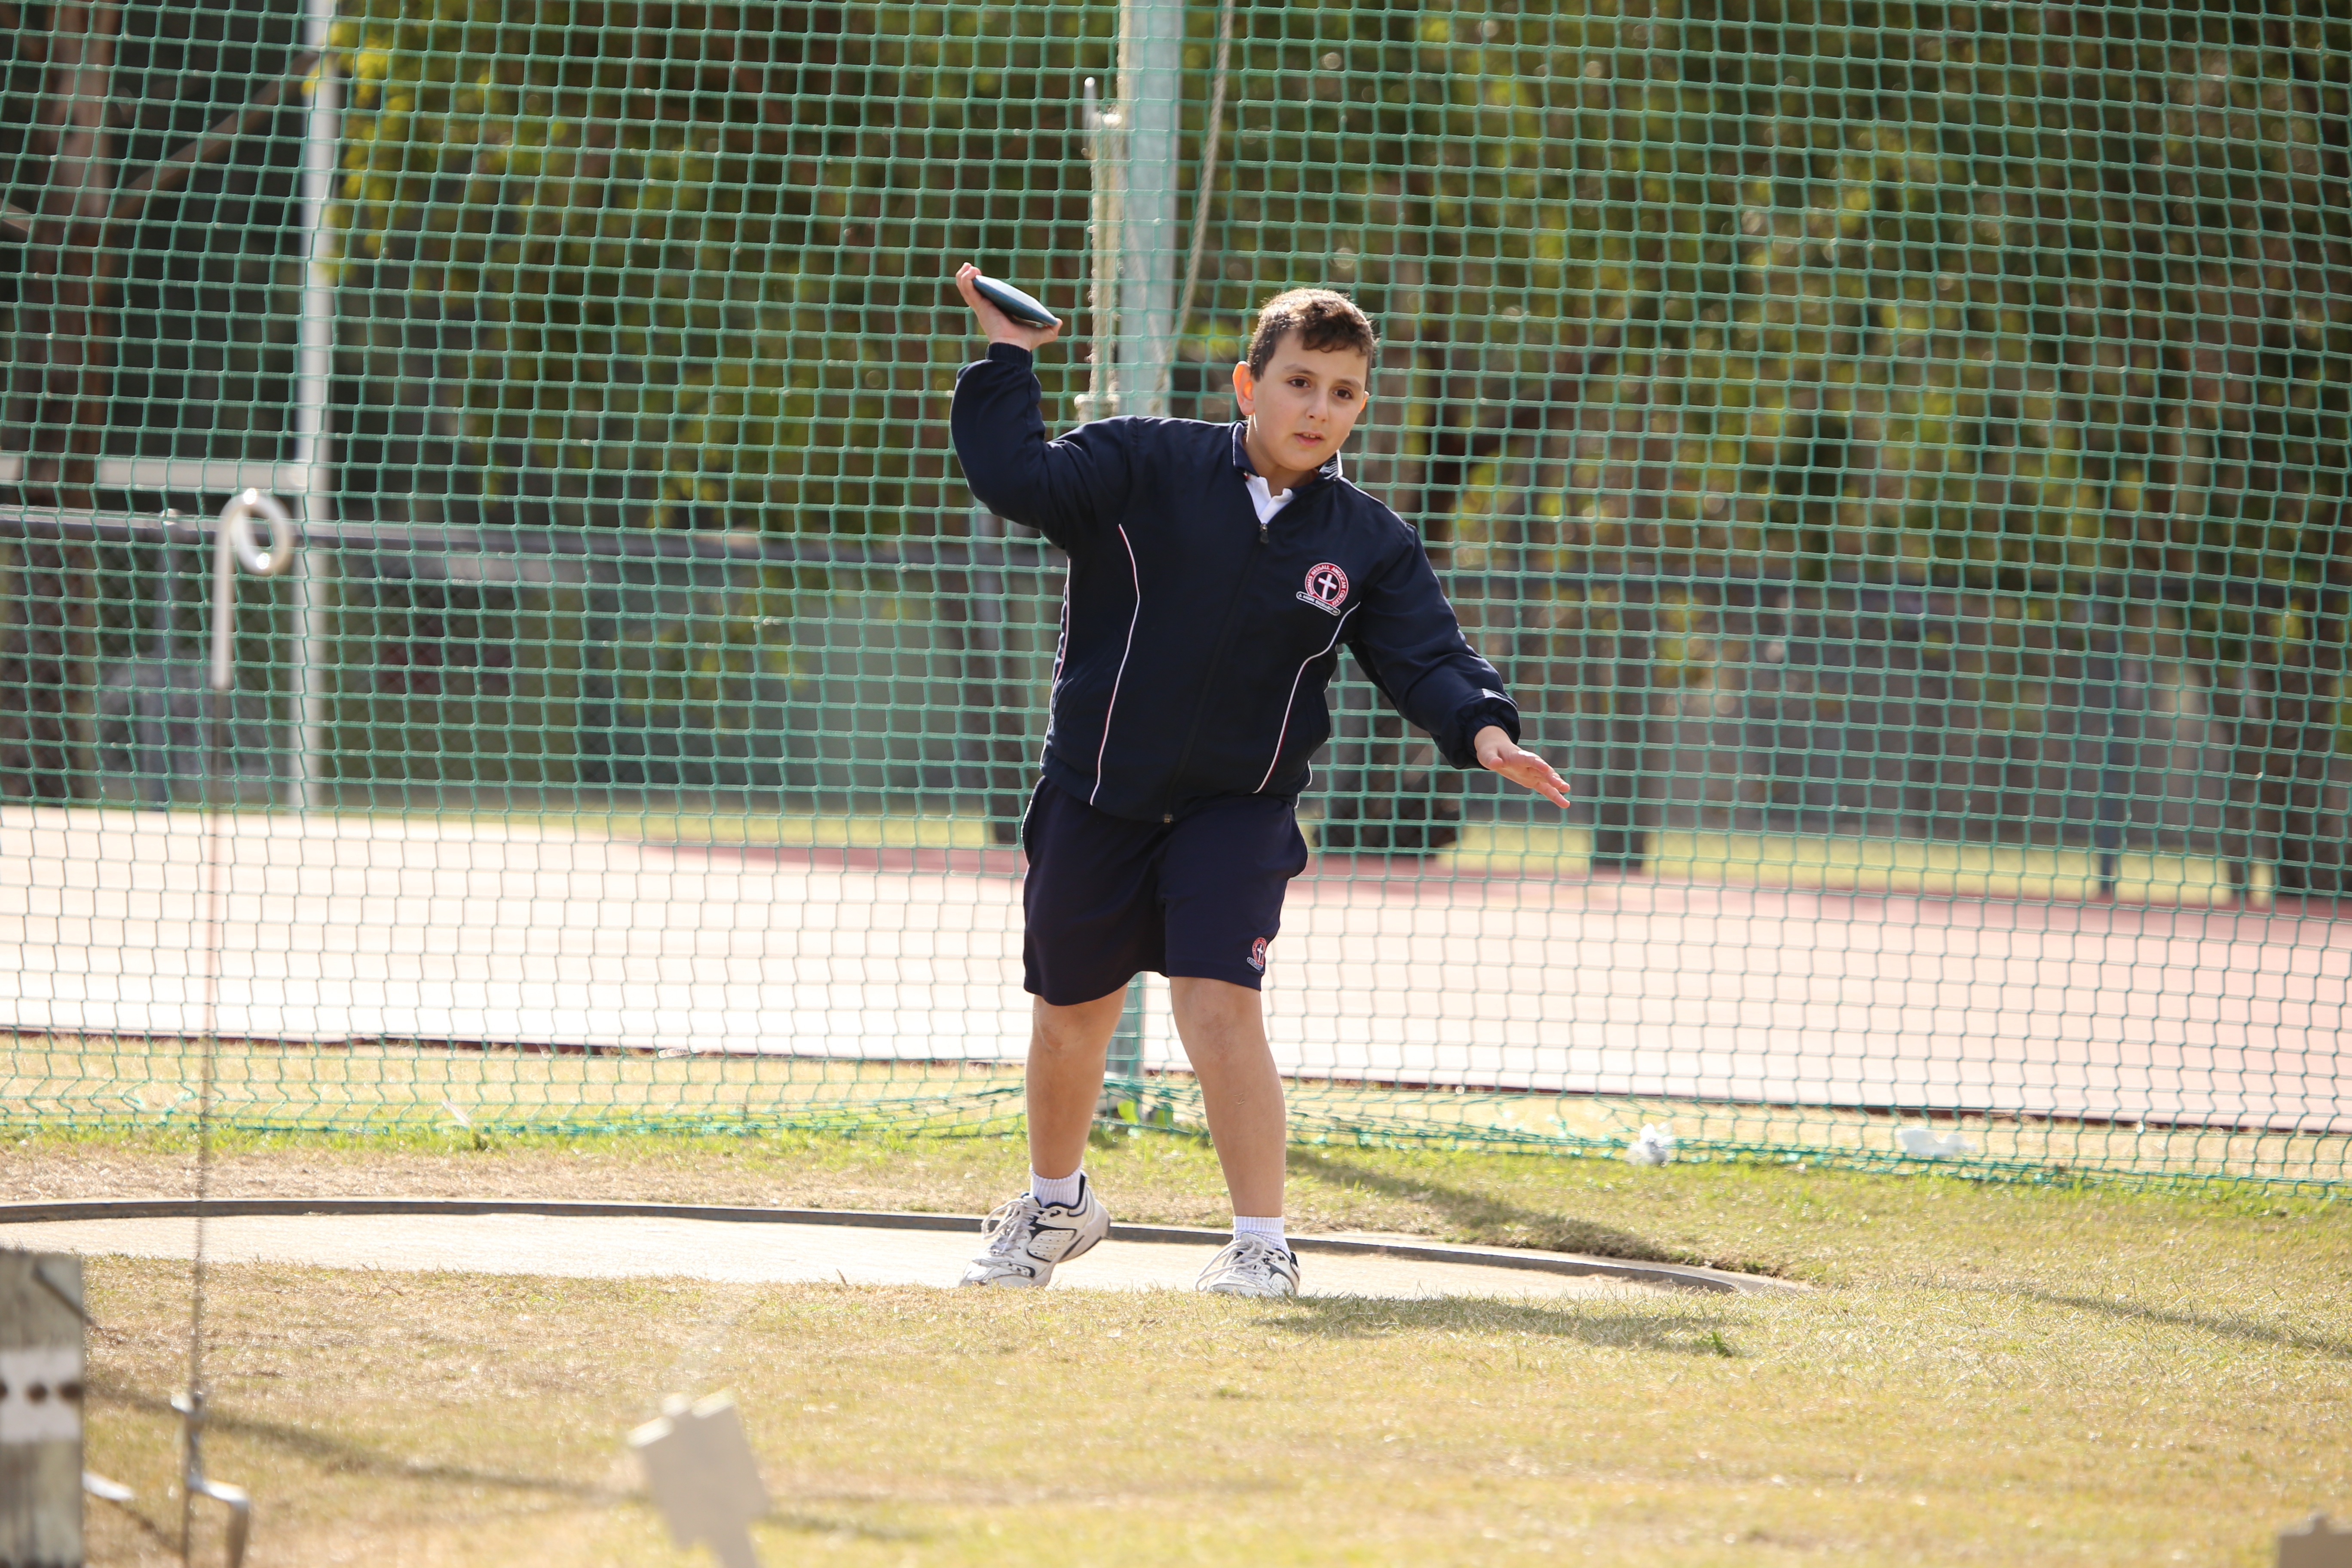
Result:
[[[1110,816],[1171,823],[1223,795],[1296,797],[1331,736],[1338,649],[1458,769],[1519,736],[1430,557],[1334,456],[1258,524],[1242,425],[1101,418],[1056,442],[1030,353],[955,376],[955,454],[981,505],[1070,552],[1044,773]]]

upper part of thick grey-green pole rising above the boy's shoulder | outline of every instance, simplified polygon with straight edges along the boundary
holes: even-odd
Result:
[[[1169,411],[1176,350],[1178,108],[1183,106],[1183,0],[1120,5],[1120,343],[1112,364],[1120,414]]]

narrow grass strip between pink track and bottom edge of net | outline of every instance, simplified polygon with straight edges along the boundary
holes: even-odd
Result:
[[[0,1131],[169,1133],[198,1107],[205,1046],[108,1034],[0,1037]],[[1117,1086],[1129,1119],[1200,1128],[1188,1074]],[[1689,1161],[1917,1168],[1896,1135],[1924,1117],[1818,1105],[1409,1088],[1296,1079],[1291,1135],[1315,1147],[1479,1147],[1613,1159],[1649,1121]],[[579,1135],[997,1135],[1018,1126],[1021,1070],[1002,1060],[828,1060],[221,1041],[214,1117],[242,1133],[461,1143]],[[2053,1117],[1938,1117],[1978,1178],[2340,1185],[2352,1138]]]

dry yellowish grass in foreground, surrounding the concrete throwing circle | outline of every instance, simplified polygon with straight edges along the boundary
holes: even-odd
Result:
[[[971,1211],[1000,1140],[261,1143],[228,1190]],[[1108,1140],[1122,1218],[1221,1211]],[[971,1298],[228,1267],[214,1472],[254,1563],[668,1563],[619,1434],[731,1385],[826,1563],[2199,1563],[2352,1507],[2352,1222],[2326,1199],[1298,1150],[1294,1213],[1771,1267],[1788,1300]],[[155,1140],[28,1140],[9,1194],[181,1190]],[[183,1269],[103,1260],[92,1465],[169,1472]],[[96,1561],[160,1563],[99,1509]]]

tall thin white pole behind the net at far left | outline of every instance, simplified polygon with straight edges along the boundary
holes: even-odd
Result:
[[[301,522],[332,522],[329,423],[327,400],[334,393],[334,275],[327,266],[327,202],[334,195],[341,92],[334,54],[327,52],[334,26],[334,0],[306,0],[303,42],[318,49],[310,78],[310,113],[303,115],[301,155],[301,339],[294,364],[294,468],[299,489],[294,515]],[[320,759],[327,738],[327,574],[332,562],[320,550],[306,550],[294,574],[294,780],[296,811],[320,804]]]

